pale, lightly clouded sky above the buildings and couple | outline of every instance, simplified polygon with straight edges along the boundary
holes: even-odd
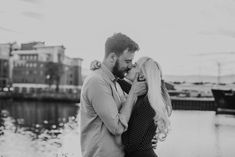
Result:
[[[84,68],[117,32],[165,75],[235,74],[235,0],[0,0],[0,43],[64,45]]]

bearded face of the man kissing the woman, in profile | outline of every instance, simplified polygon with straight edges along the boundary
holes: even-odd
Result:
[[[132,60],[134,59],[135,53],[132,51],[128,51],[126,49],[122,55],[120,55],[113,67],[113,74],[123,79],[125,74],[131,69],[132,67]]]

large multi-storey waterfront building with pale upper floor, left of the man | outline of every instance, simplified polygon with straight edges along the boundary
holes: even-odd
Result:
[[[65,47],[47,46],[45,42],[21,44],[12,52],[13,87],[18,92],[55,89],[58,77],[60,91],[77,92],[82,85],[81,58],[65,56]],[[53,69],[54,68],[54,69]]]

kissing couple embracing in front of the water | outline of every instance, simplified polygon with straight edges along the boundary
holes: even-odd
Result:
[[[138,50],[130,37],[116,33],[106,40],[103,62],[91,64],[81,91],[83,157],[157,157],[152,141],[168,134],[171,101],[156,61],[132,63]]]

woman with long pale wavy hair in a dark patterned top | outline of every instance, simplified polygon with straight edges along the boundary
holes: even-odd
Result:
[[[166,138],[172,111],[171,101],[156,61],[149,57],[140,58],[137,65],[128,72],[126,79],[134,81],[136,73],[139,74],[139,81],[146,81],[148,91],[146,95],[138,97],[128,129],[122,134],[125,156],[156,157],[151,140],[155,135],[160,141]],[[123,81],[119,83],[124,87]]]

